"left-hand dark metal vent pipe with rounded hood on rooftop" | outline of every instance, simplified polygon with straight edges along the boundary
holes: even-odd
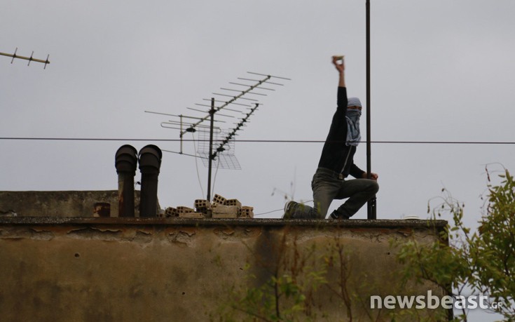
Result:
[[[122,145],[116,151],[114,165],[118,173],[118,217],[134,217],[137,149],[132,145]]]

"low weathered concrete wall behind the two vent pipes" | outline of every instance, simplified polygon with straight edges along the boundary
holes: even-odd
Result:
[[[93,217],[93,205],[111,204],[118,217],[118,190],[61,192],[0,192],[0,216]],[[139,217],[139,191],[135,191],[135,215]]]

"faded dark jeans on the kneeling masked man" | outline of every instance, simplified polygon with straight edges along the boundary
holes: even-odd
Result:
[[[333,213],[334,217],[348,219],[378,192],[379,185],[376,180],[344,180],[339,173],[333,170],[317,168],[313,175],[311,188],[313,189],[314,208],[300,203],[296,204],[291,215],[292,218],[324,219],[334,199],[348,198]]]

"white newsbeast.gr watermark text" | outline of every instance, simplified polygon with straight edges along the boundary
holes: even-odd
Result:
[[[463,296],[445,295],[439,297],[433,295],[431,290],[427,295],[372,295],[370,297],[371,309],[497,309],[502,307],[502,302],[489,302],[488,296],[479,295]]]

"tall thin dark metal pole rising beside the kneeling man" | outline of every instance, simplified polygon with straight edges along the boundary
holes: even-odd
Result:
[[[370,134],[370,0],[366,0],[366,173],[371,179],[371,134]],[[376,219],[376,196],[367,203],[367,219]]]

